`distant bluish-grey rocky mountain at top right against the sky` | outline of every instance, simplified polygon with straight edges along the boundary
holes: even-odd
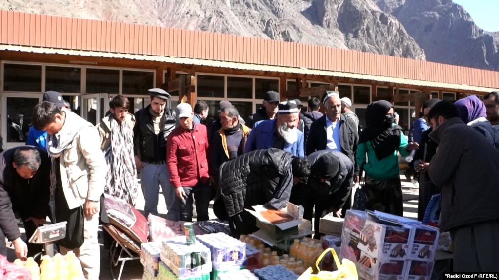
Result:
[[[429,61],[499,70],[499,32],[486,32],[452,0],[377,0],[396,16]]]

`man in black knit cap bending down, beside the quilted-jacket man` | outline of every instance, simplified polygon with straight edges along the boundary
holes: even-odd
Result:
[[[339,151],[316,151],[308,160],[312,164],[308,185],[293,187],[289,201],[302,205],[305,208],[303,218],[310,221],[315,204],[314,238],[320,239],[320,218],[329,213],[341,216],[341,209],[349,199],[355,168],[348,156]]]

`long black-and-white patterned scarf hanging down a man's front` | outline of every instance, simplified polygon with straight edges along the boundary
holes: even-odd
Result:
[[[111,145],[104,151],[107,163],[104,193],[135,205],[137,169],[133,155],[133,133],[127,122],[121,125],[109,114]]]

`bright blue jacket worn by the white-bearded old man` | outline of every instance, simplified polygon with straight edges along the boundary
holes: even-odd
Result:
[[[268,149],[274,147],[274,130],[276,120],[260,121],[254,124],[253,129],[248,136],[248,141],[245,146],[245,153],[258,149]],[[290,144],[284,142],[284,150],[290,152],[294,156],[304,157],[303,150],[303,133],[296,130],[298,140]]]

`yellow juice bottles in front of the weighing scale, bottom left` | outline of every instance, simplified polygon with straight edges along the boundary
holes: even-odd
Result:
[[[83,280],[80,261],[73,252],[65,256],[55,254],[53,258],[43,256],[40,265],[40,280]]]

